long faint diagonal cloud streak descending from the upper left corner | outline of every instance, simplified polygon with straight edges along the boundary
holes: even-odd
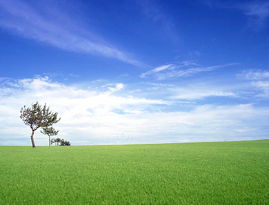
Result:
[[[42,2],[39,3],[48,3]],[[119,59],[128,64],[141,66],[142,63],[132,59],[126,53],[106,43],[94,32],[83,29],[72,20],[68,14],[56,4],[50,8],[43,6],[43,10],[31,6],[26,1],[0,1],[0,26],[15,32],[21,37],[34,39],[51,46],[72,52],[81,52],[90,55],[101,55]],[[56,16],[55,16],[56,15]],[[61,18],[59,18],[61,17]]]

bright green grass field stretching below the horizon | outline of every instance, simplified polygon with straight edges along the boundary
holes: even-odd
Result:
[[[0,204],[269,204],[269,140],[0,146]]]

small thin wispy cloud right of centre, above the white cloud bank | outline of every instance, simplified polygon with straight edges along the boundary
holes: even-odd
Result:
[[[191,75],[197,75],[199,72],[208,72],[216,70],[217,68],[225,68],[228,66],[234,66],[236,64],[224,64],[219,66],[202,67],[190,61],[183,61],[181,64],[168,64],[165,66],[159,66],[148,72],[144,72],[140,77],[153,76],[158,80],[171,79],[176,77],[189,77]]]

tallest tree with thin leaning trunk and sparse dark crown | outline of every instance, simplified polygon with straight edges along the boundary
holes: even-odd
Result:
[[[21,108],[20,118],[23,120],[24,124],[30,126],[32,129],[31,141],[33,148],[35,148],[34,131],[40,127],[48,127],[57,123],[61,119],[57,119],[57,117],[58,113],[52,113],[50,107],[47,108],[46,104],[41,108],[38,101],[37,103],[32,104],[32,108],[26,108],[26,106]]]

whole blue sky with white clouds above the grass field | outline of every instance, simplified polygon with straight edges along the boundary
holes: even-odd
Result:
[[[268,139],[268,33],[268,1],[0,0],[0,145],[35,101],[73,145]]]

